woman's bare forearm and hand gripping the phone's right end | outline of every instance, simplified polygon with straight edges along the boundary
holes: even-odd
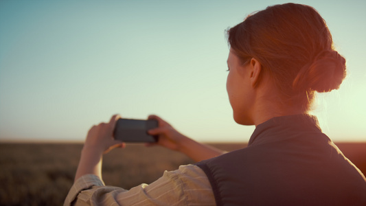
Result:
[[[219,150],[207,144],[201,144],[185,135],[179,133],[168,122],[156,115],[150,115],[149,119],[157,119],[159,127],[149,130],[150,135],[158,135],[159,140],[155,144],[160,145],[171,150],[183,152],[183,154],[192,158],[194,161],[203,161],[212,157],[217,157],[225,153],[225,151]]]

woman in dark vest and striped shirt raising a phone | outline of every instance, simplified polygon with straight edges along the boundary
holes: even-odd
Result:
[[[317,11],[270,6],[227,35],[227,93],[235,121],[256,126],[249,146],[225,153],[150,116],[158,145],[200,162],[129,191],[106,187],[102,154],[124,147],[112,137],[115,115],[89,130],[65,205],[366,205],[365,176],[308,115],[314,93],[338,89],[346,73]]]

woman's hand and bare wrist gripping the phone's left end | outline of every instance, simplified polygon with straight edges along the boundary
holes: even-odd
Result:
[[[76,170],[75,181],[84,174],[95,174],[102,179],[102,157],[113,148],[124,148],[124,143],[113,138],[113,130],[119,115],[113,115],[108,123],[92,126],[88,132]]]

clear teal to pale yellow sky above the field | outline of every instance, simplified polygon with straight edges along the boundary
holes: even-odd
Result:
[[[366,141],[366,1],[312,5],[347,59],[313,113]],[[226,93],[225,30],[286,1],[0,1],[0,141],[82,141],[115,113],[157,114],[198,141],[248,141]]]

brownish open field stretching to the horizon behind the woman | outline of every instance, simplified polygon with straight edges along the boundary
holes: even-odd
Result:
[[[228,151],[246,146],[213,145]],[[366,142],[336,145],[366,174]],[[0,144],[0,205],[62,205],[81,148],[82,144]],[[188,163],[194,161],[179,152],[133,144],[104,155],[103,179],[106,185],[129,189]]]

